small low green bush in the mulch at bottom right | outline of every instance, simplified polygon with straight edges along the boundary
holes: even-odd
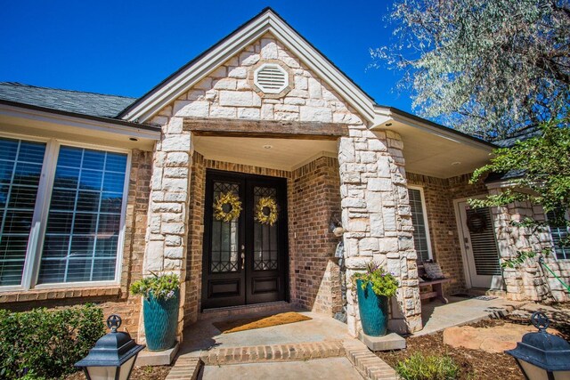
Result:
[[[405,380],[452,380],[460,372],[449,356],[424,356],[421,353],[398,362],[395,370]]]

